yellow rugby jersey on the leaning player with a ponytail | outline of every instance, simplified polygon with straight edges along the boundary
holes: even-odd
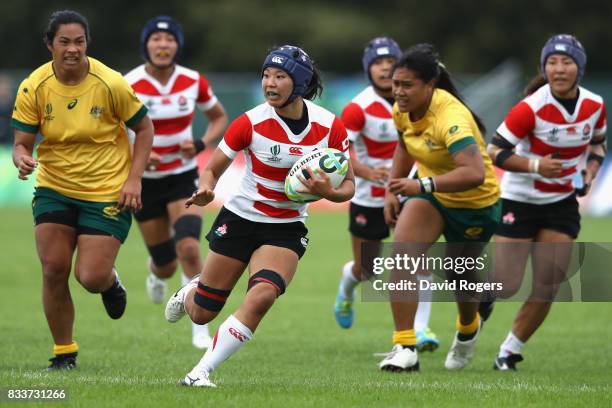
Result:
[[[485,165],[482,185],[457,193],[433,193],[449,208],[484,208],[499,199],[499,184],[493,163],[486,153],[485,143],[476,121],[457,98],[443,89],[435,89],[429,110],[416,121],[408,113],[393,106],[393,120],[406,150],[417,162],[420,177],[433,177],[455,169],[452,154],[475,141]]]

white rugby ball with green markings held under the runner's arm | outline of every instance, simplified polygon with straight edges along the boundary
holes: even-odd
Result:
[[[346,177],[348,164],[349,160],[346,154],[330,147],[308,153],[300,157],[291,167],[289,173],[287,173],[285,178],[285,195],[291,201],[298,203],[311,203],[320,200],[321,197],[318,195],[297,191],[304,188],[297,175],[299,174],[307,179],[309,175],[305,168],[309,167],[315,174],[325,173],[329,177],[332,187],[337,188]]]

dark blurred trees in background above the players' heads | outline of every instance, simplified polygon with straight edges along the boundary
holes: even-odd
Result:
[[[486,72],[514,58],[531,75],[545,40],[561,32],[582,41],[587,70],[612,70],[612,2],[597,0],[5,1],[0,4],[0,69],[31,69],[49,60],[42,33],[51,12],[66,8],[88,18],[89,54],[118,70],[141,61],[140,30],[158,14],[182,23],[181,63],[204,72],[256,72],[269,47],[292,43],[325,71],[354,73],[361,69],[364,44],[389,35],[403,48],[435,44],[453,72]]]

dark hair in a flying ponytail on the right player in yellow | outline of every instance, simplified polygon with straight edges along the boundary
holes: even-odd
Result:
[[[472,114],[474,121],[478,125],[478,129],[482,134],[486,134],[486,127],[482,120],[476,115],[469,106],[463,101],[459,95],[459,91],[455,87],[451,79],[451,75],[440,62],[440,56],[435,47],[431,44],[417,44],[405,51],[399,60],[395,63],[393,71],[398,68],[407,68],[413,71],[417,78],[423,82],[435,80],[435,87],[444,89],[455,98],[457,98]]]

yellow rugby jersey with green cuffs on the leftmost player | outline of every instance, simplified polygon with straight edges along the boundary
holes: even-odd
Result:
[[[37,187],[71,198],[116,201],[131,166],[126,125],[147,113],[123,76],[88,58],[80,84],[60,83],[52,63],[39,67],[17,91],[11,125],[42,135]]]

